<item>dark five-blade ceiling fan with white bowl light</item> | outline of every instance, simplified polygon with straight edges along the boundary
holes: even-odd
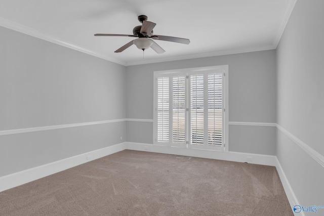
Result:
[[[153,28],[156,23],[147,21],[147,16],[140,15],[138,16],[138,21],[142,23],[142,25],[135,26],[133,29],[133,35],[131,34],[95,34],[95,36],[127,36],[127,37],[138,37],[130,42],[128,42],[123,47],[119,48],[115,51],[115,53],[120,53],[132,46],[133,44],[140,50],[146,50],[148,48],[152,48],[156,53],[161,54],[166,52],[163,48],[158,46],[154,40],[165,40],[171,42],[177,42],[180,44],[189,44],[190,40],[186,38],[180,37],[171,37],[164,35],[156,35],[153,34]]]

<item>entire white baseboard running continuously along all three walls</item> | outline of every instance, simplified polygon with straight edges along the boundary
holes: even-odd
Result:
[[[298,203],[297,198],[284,173],[284,170],[282,170],[282,167],[279,161],[277,160],[276,156],[241,152],[221,152],[204,149],[184,149],[179,147],[169,147],[131,142],[119,143],[106,148],[76,155],[63,160],[55,161],[52,163],[19,171],[4,177],[0,177],[0,192],[37,179],[41,179],[43,177],[55,174],[59,171],[63,171],[73,166],[77,166],[94,159],[98,159],[119,151],[123,151],[125,149],[275,166],[277,168],[281,183],[284,186],[291,207]],[[299,215],[304,216],[303,212],[299,213]]]

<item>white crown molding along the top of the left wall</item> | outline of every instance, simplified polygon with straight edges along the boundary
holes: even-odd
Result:
[[[39,38],[39,39],[46,40],[46,41],[52,42],[54,44],[57,44],[57,45],[60,45],[60,46],[66,47],[66,48],[70,48],[72,50],[76,50],[76,51],[79,51],[79,52],[82,52],[82,53],[86,53],[88,55],[95,56],[95,57],[98,57],[98,58],[101,58],[101,59],[104,59],[104,60],[107,60],[107,61],[110,61],[110,62],[114,62],[114,63],[124,65],[124,66],[126,65],[126,62],[124,62],[124,61],[120,61],[120,60],[118,60],[116,58],[108,57],[108,56],[103,55],[101,53],[98,53],[96,51],[88,50],[86,48],[73,45],[70,42],[61,40],[59,38],[53,37],[53,36],[51,36],[49,34],[46,34],[44,32],[37,31],[37,30],[35,30],[33,28],[29,28],[27,26],[18,24],[16,22],[13,22],[13,21],[1,18],[1,17],[0,17],[0,26],[3,26],[5,28],[9,28],[9,29],[14,30],[14,31],[18,31],[18,32],[23,33],[23,34],[27,34],[27,35],[36,37],[36,38]]]

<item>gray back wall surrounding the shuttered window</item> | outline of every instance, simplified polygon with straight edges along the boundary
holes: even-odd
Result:
[[[128,66],[127,118],[153,119],[153,71],[214,65],[229,65],[229,121],[276,121],[274,50]],[[128,122],[127,141],[152,144],[152,125],[152,122]],[[253,139],[250,135],[254,135]],[[275,130],[230,125],[229,150],[274,155]]]

